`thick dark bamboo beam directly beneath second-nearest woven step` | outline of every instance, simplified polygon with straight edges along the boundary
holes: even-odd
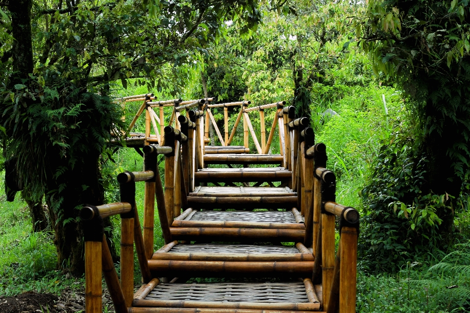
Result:
[[[297,277],[299,277],[311,274],[313,262],[148,260],[148,268],[156,275],[158,273],[165,275],[172,273],[182,276],[224,277],[225,275],[230,276],[233,274],[249,274],[252,277],[276,277],[279,275],[298,275]]]

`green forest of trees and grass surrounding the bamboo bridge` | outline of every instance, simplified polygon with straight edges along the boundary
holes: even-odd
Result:
[[[361,216],[356,312],[469,312],[469,43],[468,0],[1,0],[0,312],[85,312],[79,209],[142,170],[111,139],[141,105],[120,99],[145,93],[294,106]],[[119,223],[104,221],[118,271]]]

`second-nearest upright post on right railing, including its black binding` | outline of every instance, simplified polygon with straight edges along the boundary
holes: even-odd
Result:
[[[327,183],[322,180],[322,286],[323,302],[328,311],[331,286],[334,275],[334,226],[335,216],[323,209],[327,201],[335,201],[336,181]]]

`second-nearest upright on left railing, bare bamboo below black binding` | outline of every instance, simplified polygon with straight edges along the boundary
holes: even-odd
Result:
[[[126,305],[130,307],[134,296],[134,218],[121,218],[120,265],[121,289]]]

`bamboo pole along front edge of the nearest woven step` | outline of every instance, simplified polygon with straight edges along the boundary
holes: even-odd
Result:
[[[134,300],[134,308],[130,308],[130,313],[144,313],[157,311],[134,311],[137,307],[161,307],[161,308],[178,308],[178,311],[158,311],[158,312],[179,312],[179,313],[306,313],[305,311],[320,310],[320,302],[317,303],[258,303],[258,302],[209,302],[194,300]],[[186,311],[180,308],[194,308]],[[144,308],[141,308],[144,309]],[[147,308],[145,308],[147,309]],[[185,310],[185,311],[183,311]],[[211,311],[208,311],[211,310]],[[230,311],[228,311],[230,310]],[[259,311],[258,311],[259,310]],[[272,310],[272,311],[271,311]],[[282,311],[280,311],[282,310]],[[295,310],[295,311],[285,311]],[[300,311],[299,311],[300,310]]]

